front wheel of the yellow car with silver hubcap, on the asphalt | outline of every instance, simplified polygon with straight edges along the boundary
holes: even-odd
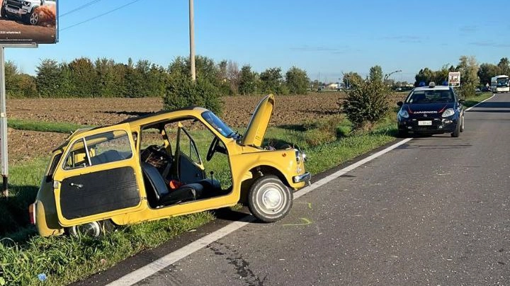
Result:
[[[276,222],[290,212],[293,193],[277,176],[258,178],[249,190],[248,208],[262,222]]]

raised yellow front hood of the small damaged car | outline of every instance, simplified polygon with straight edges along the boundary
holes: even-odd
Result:
[[[259,105],[256,107],[254,114],[246,128],[246,132],[241,139],[240,144],[244,146],[261,147],[264,135],[273,113],[274,96],[269,94],[262,98]]]

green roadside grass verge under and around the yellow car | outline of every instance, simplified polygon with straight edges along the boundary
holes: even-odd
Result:
[[[491,94],[467,98],[467,103],[474,105],[489,96]],[[392,142],[395,126],[395,114],[392,114],[372,132],[352,132],[348,120],[338,115],[302,125],[271,127],[265,142],[275,147],[296,144],[308,155],[307,170],[317,174]],[[208,148],[210,134],[194,132],[193,137],[199,149]],[[201,156],[204,158],[205,154]],[[225,155],[215,154],[212,161],[205,164],[206,170],[215,170],[215,176],[221,181],[229,180],[225,158]],[[0,234],[3,237],[0,239],[0,286],[66,285],[214,219],[210,212],[161,219],[119,227],[101,239],[36,236],[34,227],[28,224],[27,207],[35,198],[47,160],[35,159],[11,166],[11,198],[0,200],[0,229],[4,231]],[[45,273],[46,282],[38,280],[40,273]]]

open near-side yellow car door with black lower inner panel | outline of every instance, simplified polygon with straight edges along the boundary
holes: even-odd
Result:
[[[69,142],[53,177],[64,226],[98,221],[142,207],[143,184],[129,125],[84,132]]]

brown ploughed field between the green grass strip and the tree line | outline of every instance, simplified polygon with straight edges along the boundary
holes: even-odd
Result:
[[[336,113],[344,93],[276,96],[272,125],[298,123]],[[232,127],[246,127],[263,96],[224,97],[220,116]],[[8,118],[81,125],[111,125],[133,116],[162,110],[162,98],[24,98],[7,101]]]

